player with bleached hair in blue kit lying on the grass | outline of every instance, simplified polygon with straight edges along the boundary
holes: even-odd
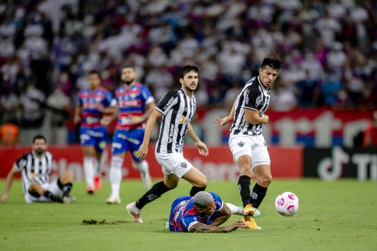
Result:
[[[248,228],[242,220],[219,227],[231,214],[242,215],[242,208],[224,203],[216,193],[201,191],[194,196],[182,196],[174,200],[165,229],[172,232],[226,233],[238,227]]]

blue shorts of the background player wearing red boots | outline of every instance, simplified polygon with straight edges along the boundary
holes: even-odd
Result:
[[[93,146],[98,153],[106,148],[107,130],[106,127],[80,128],[80,145]]]

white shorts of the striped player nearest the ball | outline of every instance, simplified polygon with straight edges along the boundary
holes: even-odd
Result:
[[[263,135],[230,135],[229,148],[233,154],[233,160],[237,163],[237,159],[242,155],[251,157],[251,168],[260,165],[271,165],[267,144]]]

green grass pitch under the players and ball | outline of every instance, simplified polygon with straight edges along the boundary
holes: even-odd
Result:
[[[157,182],[157,180],[155,181]],[[252,182],[255,182],[252,180]],[[207,191],[240,205],[237,182],[209,182]],[[5,180],[0,181],[3,194]],[[110,184],[95,195],[85,193],[85,183],[75,182],[75,204],[24,201],[21,182],[13,184],[6,204],[0,204],[1,250],[377,250],[377,183],[342,179],[274,180],[259,207],[261,230],[237,229],[231,233],[175,233],[163,230],[171,202],[187,195],[189,183],[146,205],[144,223],[134,223],[127,203],[143,193],[140,181],[124,180],[121,205],[107,205]],[[292,217],[275,211],[280,192],[294,192],[300,210]],[[82,225],[84,219],[105,220]],[[240,219],[233,215],[224,225]]]

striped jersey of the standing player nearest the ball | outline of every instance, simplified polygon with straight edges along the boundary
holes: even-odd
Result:
[[[260,117],[263,116],[269,103],[271,87],[264,87],[259,76],[250,79],[237,96],[234,109],[234,120],[230,128],[234,135],[259,135],[262,133],[262,123],[251,124],[245,120],[245,109],[257,111]]]

